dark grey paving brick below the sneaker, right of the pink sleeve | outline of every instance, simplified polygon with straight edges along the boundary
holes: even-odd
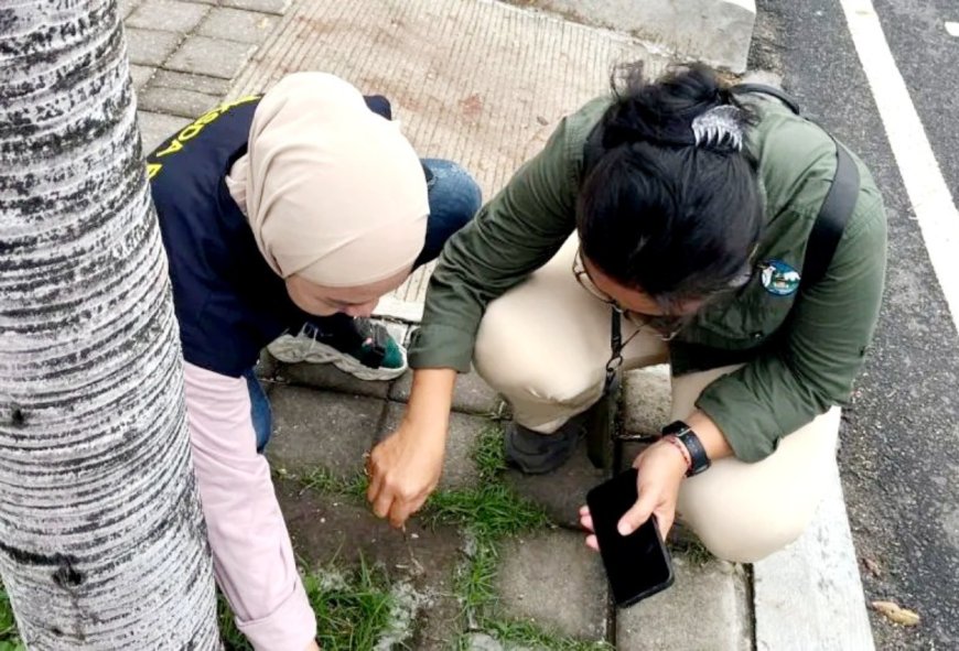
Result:
[[[299,387],[273,387],[270,460],[293,474],[326,468],[349,478],[363,471],[363,455],[376,435],[385,402]]]

